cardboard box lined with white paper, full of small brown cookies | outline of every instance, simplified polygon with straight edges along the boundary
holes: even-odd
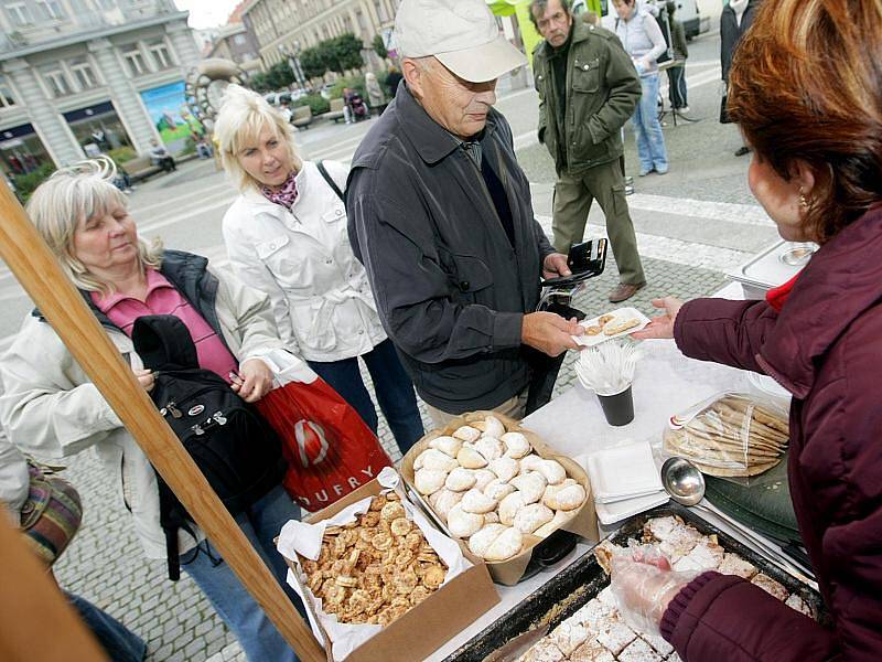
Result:
[[[391,468],[286,524],[277,546],[330,661],[423,660],[499,601],[483,560],[427,521]]]

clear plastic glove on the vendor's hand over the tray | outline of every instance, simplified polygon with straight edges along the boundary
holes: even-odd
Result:
[[[657,547],[635,546],[613,557],[611,589],[628,626],[658,634],[668,604],[699,574],[675,573]]]

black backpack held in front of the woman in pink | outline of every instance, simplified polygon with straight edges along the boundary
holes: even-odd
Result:
[[[179,318],[138,318],[131,338],[155,377],[150,397],[232,515],[281,482],[287,465],[276,431],[227,382],[198,366],[196,345]],[[192,532],[193,519],[159,473],[157,482],[174,581],[181,576],[178,531]]]

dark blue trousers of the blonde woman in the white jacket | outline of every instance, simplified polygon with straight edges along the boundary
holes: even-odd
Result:
[[[362,354],[362,360],[374,381],[379,408],[389,421],[389,428],[404,455],[423,435],[413,384],[405,372],[390,340],[384,340],[367,354]],[[306,363],[358,412],[374,433],[377,431],[377,410],[362,380],[358,359]]]

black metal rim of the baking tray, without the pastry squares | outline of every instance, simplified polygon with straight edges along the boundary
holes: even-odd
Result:
[[[609,537],[611,542],[625,546],[628,538],[639,538],[643,525],[647,520],[666,515],[678,515],[684,522],[691,524],[704,535],[717,534],[718,543],[727,552],[738,554],[744,560],[756,566],[763,574],[779,581],[789,592],[797,594],[809,607],[816,620],[821,623],[828,622],[819,594],[781,572],[750,547],[679,504],[671,502],[625,520],[621,528]],[[598,564],[593,551],[588,552],[496,622],[451,653],[444,662],[478,662],[530,630],[545,626],[549,626],[548,631],[553,630],[585,602],[595,598],[609,584],[610,577]]]

